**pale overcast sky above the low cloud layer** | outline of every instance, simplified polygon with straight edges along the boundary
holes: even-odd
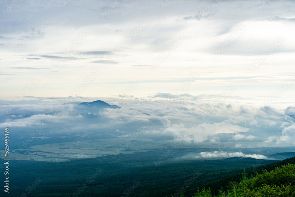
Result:
[[[0,2],[3,100],[294,98],[294,1]]]

